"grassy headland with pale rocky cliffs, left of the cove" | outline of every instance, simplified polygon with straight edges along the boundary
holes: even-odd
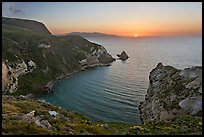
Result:
[[[82,67],[114,61],[101,45],[80,36],[39,33],[34,31],[35,25],[25,29],[29,27],[25,22],[29,21],[17,19],[12,25],[9,21],[2,24],[3,93],[42,94],[44,86],[54,79],[80,71]]]

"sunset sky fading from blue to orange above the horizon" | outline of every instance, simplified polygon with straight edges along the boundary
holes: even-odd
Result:
[[[2,16],[40,21],[52,34],[202,35],[202,2],[3,2]]]

